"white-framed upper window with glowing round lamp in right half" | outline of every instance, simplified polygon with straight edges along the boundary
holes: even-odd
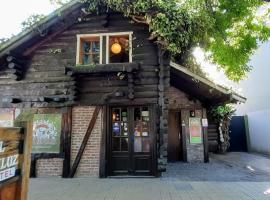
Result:
[[[77,65],[132,62],[132,32],[77,36]]]

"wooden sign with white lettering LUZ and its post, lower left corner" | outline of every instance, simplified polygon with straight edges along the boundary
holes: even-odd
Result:
[[[32,138],[27,125],[0,128],[0,200],[27,200]]]

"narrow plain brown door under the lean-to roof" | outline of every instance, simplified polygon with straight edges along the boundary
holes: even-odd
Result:
[[[182,160],[180,112],[169,112],[168,161]]]

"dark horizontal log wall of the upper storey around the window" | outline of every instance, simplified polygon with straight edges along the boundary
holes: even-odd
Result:
[[[159,62],[156,45],[148,40],[148,27],[131,23],[120,14],[87,17],[59,33],[30,54],[23,66],[9,57],[0,71],[0,107],[65,107],[78,104],[154,104],[158,102]],[[136,73],[120,80],[117,73],[87,75],[66,74],[76,64],[77,34],[133,31],[133,62],[140,63]],[[26,53],[29,54],[29,49]],[[20,81],[17,81],[20,80]],[[114,95],[118,92],[118,96]],[[102,100],[102,101],[101,101]]]

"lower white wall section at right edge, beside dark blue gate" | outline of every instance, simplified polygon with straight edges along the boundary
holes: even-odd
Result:
[[[270,155],[270,109],[248,113],[250,150]]]

